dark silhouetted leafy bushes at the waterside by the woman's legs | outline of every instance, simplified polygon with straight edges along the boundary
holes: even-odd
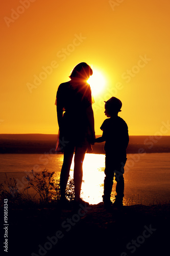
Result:
[[[6,180],[4,183],[0,183],[1,204],[5,198],[15,204],[30,202],[48,204],[52,202],[56,203],[59,200],[60,180],[54,177],[55,173],[50,173],[47,169],[44,169],[41,173],[36,173],[34,170],[31,172],[31,175],[25,177],[28,180],[28,185],[22,191],[19,190],[16,179],[8,178],[5,174]],[[29,193],[30,188],[34,189],[34,195]],[[69,178],[65,194],[68,201],[74,200],[73,179]]]

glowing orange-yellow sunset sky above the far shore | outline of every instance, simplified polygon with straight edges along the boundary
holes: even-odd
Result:
[[[7,0],[0,12],[0,133],[57,133],[57,88],[85,61],[106,79],[97,135],[111,96],[130,135],[170,135],[168,0]]]

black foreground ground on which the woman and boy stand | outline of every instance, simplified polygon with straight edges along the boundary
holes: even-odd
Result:
[[[168,255],[169,208],[133,205],[108,211],[103,203],[76,209],[9,205],[5,255]],[[1,208],[1,231],[3,214]]]

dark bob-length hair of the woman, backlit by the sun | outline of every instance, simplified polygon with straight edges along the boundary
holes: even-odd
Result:
[[[93,71],[90,66],[87,65],[86,62],[81,62],[72,70],[69,78],[79,78],[87,80],[92,75],[92,73]]]

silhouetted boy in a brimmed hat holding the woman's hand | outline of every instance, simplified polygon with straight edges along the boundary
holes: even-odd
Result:
[[[126,148],[129,143],[128,126],[126,122],[118,116],[122,108],[122,102],[116,97],[111,97],[105,101],[105,119],[101,130],[102,137],[96,138],[95,142],[104,142],[105,158],[105,179],[103,202],[105,207],[110,207],[110,200],[113,178],[115,175],[116,193],[115,207],[123,206],[124,198],[124,166],[127,160]]]

